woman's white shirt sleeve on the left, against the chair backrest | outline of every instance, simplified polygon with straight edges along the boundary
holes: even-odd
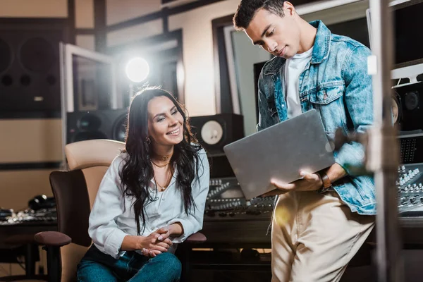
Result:
[[[123,214],[123,192],[120,187],[119,165],[122,157],[116,157],[106,171],[99,191],[92,206],[88,234],[96,247],[117,259],[123,252],[120,251],[123,238],[126,234],[116,224],[116,217]]]

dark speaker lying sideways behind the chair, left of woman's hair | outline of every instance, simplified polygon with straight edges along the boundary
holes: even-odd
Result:
[[[127,116],[127,109],[68,113],[67,144],[93,139],[124,142]]]

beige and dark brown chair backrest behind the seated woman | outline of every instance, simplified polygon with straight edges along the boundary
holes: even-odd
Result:
[[[88,218],[99,184],[111,161],[125,148],[114,140],[87,140],[66,145],[70,171],[54,171],[51,188],[56,197],[59,231],[72,238],[61,247],[61,281],[76,281],[76,267],[91,245]]]

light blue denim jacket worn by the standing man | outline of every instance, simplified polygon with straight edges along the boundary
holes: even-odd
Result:
[[[340,35],[333,35],[320,20],[312,59],[300,74],[299,94],[304,113],[316,109],[329,140],[337,128],[344,133],[368,130],[373,122],[372,77],[367,73],[370,50],[363,44]],[[284,87],[286,59],[274,57],[259,76],[259,123],[257,130],[268,128],[288,118]],[[301,149],[301,148],[298,148]],[[333,152],[336,163],[348,176],[333,183],[341,200],[358,214],[376,214],[374,180],[369,176],[353,176],[351,168],[362,166],[364,147],[350,142]]]

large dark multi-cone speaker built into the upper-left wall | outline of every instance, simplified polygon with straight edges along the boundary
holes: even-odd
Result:
[[[34,21],[0,27],[0,111],[60,111],[65,21]]]

